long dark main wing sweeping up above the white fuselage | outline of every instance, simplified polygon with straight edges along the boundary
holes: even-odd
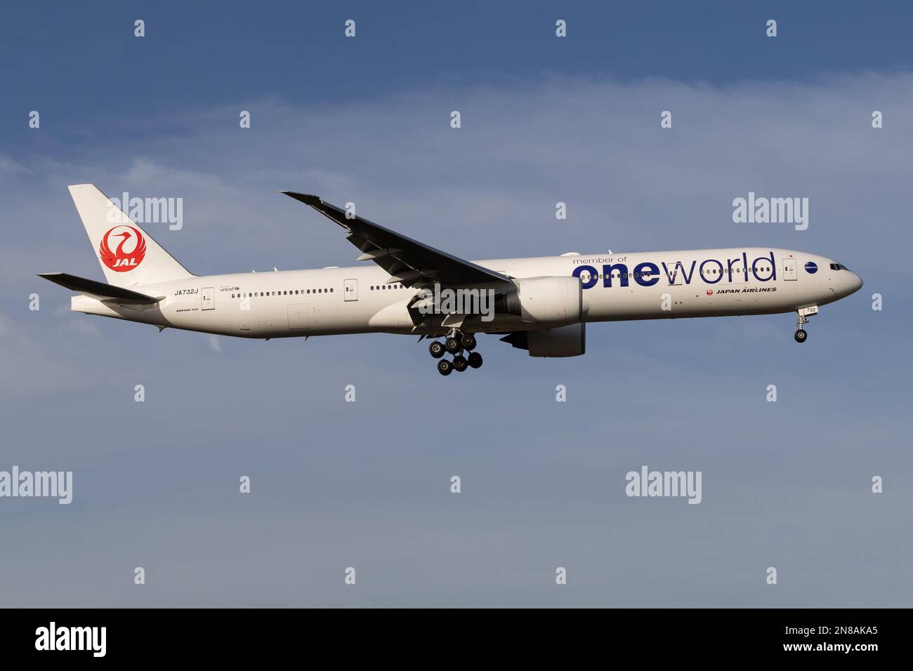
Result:
[[[373,261],[390,273],[387,284],[401,282],[407,287],[467,285],[487,282],[509,282],[509,278],[486,267],[454,257],[433,246],[401,236],[389,228],[374,224],[361,216],[349,218],[336,205],[324,203],[319,196],[283,191],[295,200],[310,205],[321,215],[345,228],[346,239],[362,251],[359,261]]]

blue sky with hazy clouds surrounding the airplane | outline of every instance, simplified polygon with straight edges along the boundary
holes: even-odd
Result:
[[[910,605],[907,5],[4,12],[0,469],[75,491],[0,500],[2,603]],[[485,367],[443,379],[406,338],[70,313],[35,273],[101,278],[82,182],[183,197],[184,228],[153,235],[200,274],[351,264],[292,189],[462,257],[770,245],[866,286],[801,347],[792,315],[603,324],[572,360],[484,337]],[[809,197],[809,229],[733,224],[749,191]],[[644,464],[701,470],[703,502],[624,497]]]

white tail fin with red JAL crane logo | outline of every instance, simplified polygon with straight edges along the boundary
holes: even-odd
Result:
[[[95,184],[68,189],[109,284],[131,287],[194,277]]]

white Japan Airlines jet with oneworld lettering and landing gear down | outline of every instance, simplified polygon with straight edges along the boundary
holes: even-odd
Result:
[[[794,339],[804,342],[809,317],[862,287],[832,258],[771,247],[467,261],[289,191],[280,193],[340,225],[357,260],[371,263],[196,276],[94,184],[68,189],[107,283],[39,277],[78,292],[76,312],[264,340],[417,335],[442,375],[482,365],[477,334],[533,357],[570,357],[586,351],[586,325],[598,321],[795,312]]]

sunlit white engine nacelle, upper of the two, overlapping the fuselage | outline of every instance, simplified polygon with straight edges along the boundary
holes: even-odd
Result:
[[[573,324],[581,320],[583,290],[580,278],[526,278],[506,297],[507,310],[523,321]]]

